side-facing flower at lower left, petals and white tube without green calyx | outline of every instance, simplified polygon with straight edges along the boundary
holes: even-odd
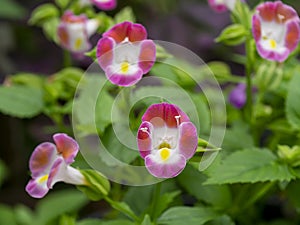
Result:
[[[32,179],[26,186],[29,195],[44,197],[56,182],[85,185],[84,176],[70,166],[78,153],[77,142],[66,134],[53,136],[55,145],[44,142],[38,145],[29,160]]]

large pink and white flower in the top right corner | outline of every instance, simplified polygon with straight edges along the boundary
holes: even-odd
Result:
[[[265,2],[253,15],[252,33],[262,58],[283,62],[299,43],[300,19],[292,7],[280,1]]]

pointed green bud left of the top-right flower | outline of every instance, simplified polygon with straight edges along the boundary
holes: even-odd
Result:
[[[248,32],[241,24],[232,24],[226,27],[216,42],[222,42],[226,45],[235,46],[242,44],[246,40]]]

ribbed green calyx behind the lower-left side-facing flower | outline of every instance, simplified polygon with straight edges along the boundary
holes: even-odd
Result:
[[[107,178],[96,170],[81,170],[80,172],[87,180],[88,185],[77,186],[77,188],[85,193],[89,199],[98,201],[108,195],[110,183]]]

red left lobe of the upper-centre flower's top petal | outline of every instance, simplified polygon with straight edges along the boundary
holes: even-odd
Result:
[[[124,41],[128,35],[128,28],[132,25],[131,22],[125,21],[123,23],[116,24],[110,30],[103,34],[103,37],[111,37],[117,43]]]

